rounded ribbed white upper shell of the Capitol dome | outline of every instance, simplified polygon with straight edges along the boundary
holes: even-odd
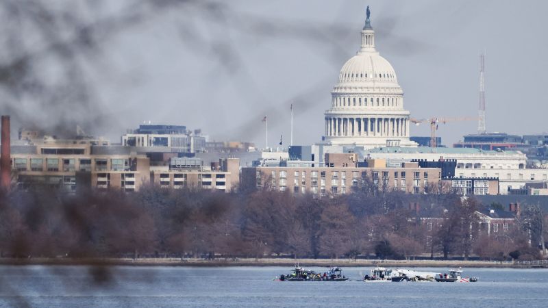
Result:
[[[340,69],[339,84],[382,82],[397,86],[396,72],[390,62],[377,52],[358,52]]]

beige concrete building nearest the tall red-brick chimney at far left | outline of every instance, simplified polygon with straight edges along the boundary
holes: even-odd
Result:
[[[92,155],[90,144],[47,143],[12,146],[12,170],[18,188],[33,186],[77,190],[77,180],[92,188],[138,190],[149,183],[144,155]]]

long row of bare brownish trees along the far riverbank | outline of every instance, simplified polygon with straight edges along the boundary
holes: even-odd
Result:
[[[411,201],[441,219],[431,225],[419,220]],[[25,258],[540,257],[530,244],[531,220],[517,222],[502,236],[487,235],[474,214],[479,207],[455,194],[366,188],[324,198],[156,187],[129,194],[14,191],[0,196],[0,253]]]

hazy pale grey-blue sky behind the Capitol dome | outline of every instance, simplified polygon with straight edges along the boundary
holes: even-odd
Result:
[[[548,1],[223,1],[218,12],[173,10],[104,42],[92,64],[97,127],[112,141],[144,120],[201,128],[213,140],[264,146],[321,140],[323,112],[343,64],[358,51],[366,5],[375,44],[395,68],[414,118],[477,116],[486,51],[486,127],[548,131]],[[75,108],[75,112],[78,112]],[[440,125],[444,144],[477,122]],[[412,127],[412,136],[429,129]]]

